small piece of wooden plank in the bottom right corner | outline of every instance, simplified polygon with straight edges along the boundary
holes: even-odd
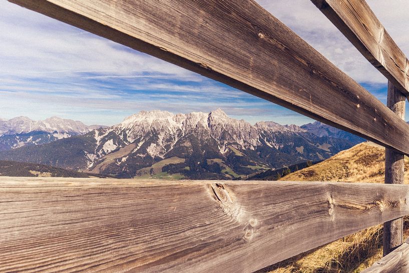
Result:
[[[361,273],[407,273],[409,272],[409,243],[401,246],[361,271]]]

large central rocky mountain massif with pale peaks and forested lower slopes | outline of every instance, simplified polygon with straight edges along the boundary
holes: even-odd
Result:
[[[295,125],[253,126],[220,109],[176,115],[155,110],[84,135],[4,151],[0,159],[117,177],[232,179],[323,160],[356,143]]]

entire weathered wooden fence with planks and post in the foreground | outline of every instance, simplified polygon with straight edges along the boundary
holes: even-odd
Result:
[[[409,272],[409,186],[388,184],[409,62],[363,0],[312,2],[389,80],[390,109],[252,0],[11,2],[387,149],[385,184],[2,178],[1,272],[253,272],[383,222],[391,253],[365,272]]]

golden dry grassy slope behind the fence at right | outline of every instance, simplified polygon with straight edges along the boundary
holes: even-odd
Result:
[[[311,167],[291,173],[281,180],[345,181],[383,183],[384,149],[361,143]],[[405,160],[405,173],[409,164]],[[409,184],[409,176],[405,175]],[[409,221],[405,219],[405,236]],[[355,273],[382,257],[382,225],[361,230],[325,246],[260,270],[270,273]]]

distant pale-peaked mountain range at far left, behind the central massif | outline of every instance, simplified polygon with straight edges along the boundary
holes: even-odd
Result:
[[[76,135],[83,135],[94,129],[106,127],[87,126],[81,121],[51,117],[35,121],[28,117],[10,120],[0,119],[0,151],[26,145],[41,145]]]

